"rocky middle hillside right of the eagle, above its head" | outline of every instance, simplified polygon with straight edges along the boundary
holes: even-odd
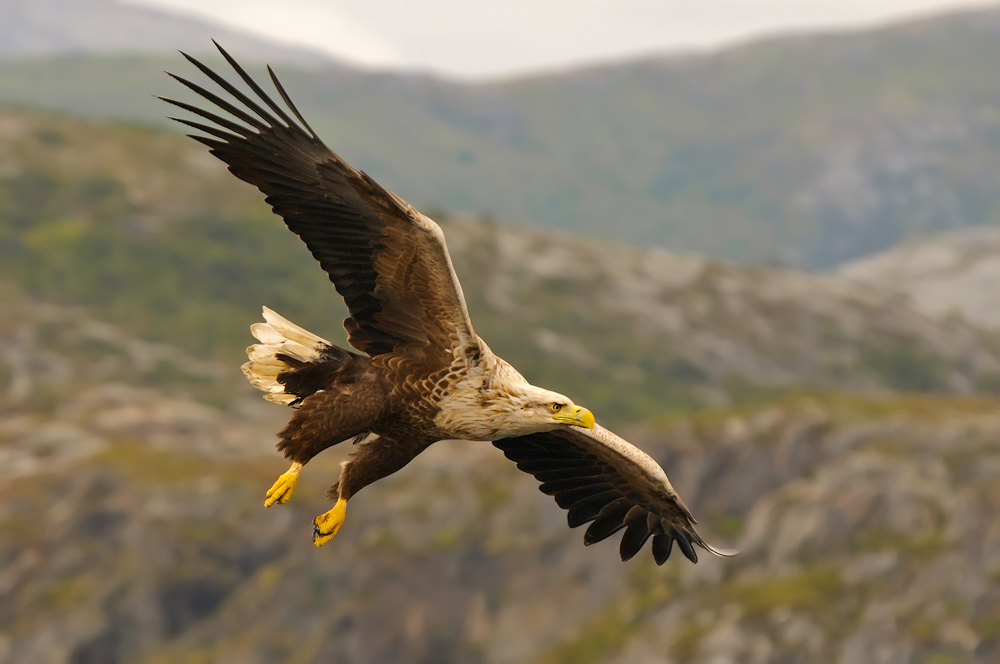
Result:
[[[566,390],[629,385],[627,397],[608,397],[614,413],[802,388],[1000,387],[994,334],[835,276],[483,223],[445,230],[494,350]]]

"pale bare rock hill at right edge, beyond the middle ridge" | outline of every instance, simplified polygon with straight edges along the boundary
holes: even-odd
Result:
[[[843,265],[847,279],[884,289],[937,318],[1000,330],[1000,229],[915,240]]]

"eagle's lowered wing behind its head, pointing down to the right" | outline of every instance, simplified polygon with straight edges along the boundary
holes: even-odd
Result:
[[[622,560],[638,553],[650,536],[657,565],[670,556],[674,541],[691,562],[698,562],[693,544],[719,556],[735,553],[708,545],[663,469],[600,425],[592,431],[572,427],[493,444],[542,482],[542,493],[569,510],[570,528],[593,521],[584,544],[600,542],[625,528]]]

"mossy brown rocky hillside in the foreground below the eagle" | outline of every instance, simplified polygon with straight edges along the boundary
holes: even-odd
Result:
[[[1000,402],[793,398],[625,432],[734,559],[585,548],[531,477],[475,443],[367,489],[315,549],[344,449],[264,510],[284,469],[261,455],[272,424],[88,385],[94,366],[113,377],[118,357],[162,348],[17,306],[35,341],[0,399],[4,664],[1000,657]],[[132,364],[117,371],[141,378]],[[46,402],[42,385],[65,391]]]

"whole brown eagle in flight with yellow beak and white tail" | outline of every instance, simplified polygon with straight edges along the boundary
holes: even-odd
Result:
[[[244,373],[265,399],[295,409],[278,442],[291,467],[268,490],[265,507],[288,502],[310,459],[353,440],[328,493],[334,505],[313,521],[313,542],[322,546],[344,523],[351,498],[428,446],[491,441],[568,510],[571,528],[590,524],[584,544],[624,529],[623,561],[650,538],[658,565],[674,542],[692,562],[695,546],[732,555],[701,538],[652,458],[569,397],[529,383],[476,335],[433,220],[334,154],[270,67],[284,107],[216,47],[256,99],[183,52],[228,97],[170,74],[215,108],[160,99],[204,120],[170,118],[201,132],[190,136],[257,187],[305,242],[347,305],[344,327],[358,351],[267,308],[264,322],[251,326],[259,343],[247,349]]]

